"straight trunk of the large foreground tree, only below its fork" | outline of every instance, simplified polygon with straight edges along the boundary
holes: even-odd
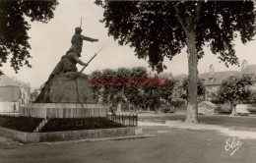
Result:
[[[199,123],[197,110],[197,50],[196,50],[196,34],[195,31],[186,32],[187,35],[187,52],[188,52],[188,104],[187,117],[185,122]]]

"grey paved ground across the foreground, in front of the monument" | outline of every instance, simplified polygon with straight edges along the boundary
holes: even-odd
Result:
[[[256,139],[240,139],[242,145],[225,151],[225,140],[217,131],[144,126],[144,134],[157,137],[81,143],[21,144],[0,138],[1,163],[216,163],[256,160]],[[242,133],[241,133],[242,134]],[[237,141],[237,137],[235,137]]]

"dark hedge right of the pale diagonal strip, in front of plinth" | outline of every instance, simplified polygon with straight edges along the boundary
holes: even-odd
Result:
[[[124,128],[124,127],[125,127],[124,125],[116,123],[105,117],[74,118],[74,119],[52,118],[40,130],[40,133],[110,129],[110,128]]]

